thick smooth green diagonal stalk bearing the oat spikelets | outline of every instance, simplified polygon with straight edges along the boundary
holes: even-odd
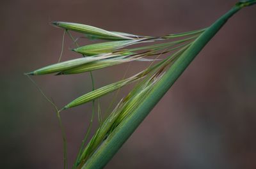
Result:
[[[255,3],[255,1],[249,1]],[[157,102],[170,89],[177,78],[189,66],[190,62],[198,55],[204,46],[211,40],[211,38],[221,29],[227,22],[228,18],[232,17],[234,13],[239,11],[244,6],[244,3],[237,3],[234,8],[228,11],[225,15],[219,18],[211,27],[202,33],[192,45],[182,54],[179,59],[170,67],[164,74],[163,78],[157,82],[152,91],[146,96],[132,114],[122,121],[108,138],[100,145],[99,149],[92,155],[83,166],[83,169],[100,169],[103,168],[108,161],[115,155],[124,142],[131,136],[134,130],[147,117],[148,113],[154,108]]]

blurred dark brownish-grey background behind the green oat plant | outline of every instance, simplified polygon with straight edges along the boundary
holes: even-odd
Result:
[[[209,26],[236,1],[1,1],[0,166],[62,168],[56,114],[23,75],[58,61],[63,31],[54,20],[143,35]],[[256,6],[239,11],[200,52],[106,168],[256,168]],[[74,34],[76,35],[76,34]],[[79,55],[68,50],[63,59]],[[100,87],[143,69],[134,62],[93,72]],[[63,106],[90,91],[90,77],[33,77]],[[130,87],[120,92],[124,96]],[[109,98],[100,99],[106,110]],[[76,157],[91,104],[62,113],[68,166]],[[97,122],[94,123],[95,129]]]

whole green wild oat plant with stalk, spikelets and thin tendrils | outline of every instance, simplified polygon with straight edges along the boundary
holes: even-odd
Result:
[[[49,73],[71,75],[89,72],[93,86],[91,92],[74,99],[59,109],[51,99],[45,96],[40,87],[35,84],[45,98],[54,106],[58,115],[63,136],[64,168],[67,168],[67,142],[65,130],[61,124],[60,113],[62,111],[92,101],[92,119],[72,168],[104,168],[127,138],[129,138],[143,119],[145,119],[150,110],[154,108],[175,80],[179,78],[190,62],[193,61],[200,50],[204,48],[214,34],[227,22],[228,18],[232,17],[234,13],[243,7],[255,3],[256,0],[239,1],[230,11],[216,20],[214,24],[204,29],[158,37],[106,31],[97,27],[71,22],[52,22],[52,25],[64,29],[63,37],[67,33],[74,40],[76,48],[72,50],[81,54],[81,57],[63,62],[61,62],[60,57],[59,62],[56,64],[45,66],[44,68],[26,73],[26,75],[35,84],[30,75],[46,75]],[[71,31],[81,33],[82,36],[90,40],[97,39],[104,41],[80,47],[70,33]],[[133,46],[138,43],[141,43],[142,47]],[[169,56],[162,58],[161,54],[166,53]],[[152,59],[149,56],[155,57]],[[124,78],[99,89],[94,89],[92,71],[131,61],[150,62],[150,65],[132,77]],[[100,117],[100,108],[97,108],[99,126],[92,138],[88,140],[95,114],[95,99],[109,92],[116,91],[132,82],[137,82],[134,88],[118,102],[111,114],[104,121]]]

